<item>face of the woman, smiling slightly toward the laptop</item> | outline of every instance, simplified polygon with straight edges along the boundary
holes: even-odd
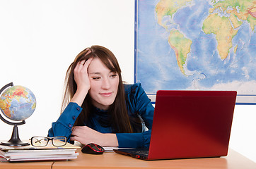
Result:
[[[93,106],[107,110],[117,96],[118,74],[111,72],[99,58],[93,58],[88,67],[88,75],[91,82],[89,94]]]

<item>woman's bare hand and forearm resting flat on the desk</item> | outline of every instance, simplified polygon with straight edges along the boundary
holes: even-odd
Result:
[[[73,127],[70,140],[85,145],[95,143],[100,146],[118,146],[116,134],[103,134],[87,126]]]

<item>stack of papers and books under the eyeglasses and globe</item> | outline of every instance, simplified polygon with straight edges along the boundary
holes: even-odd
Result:
[[[76,149],[80,146],[74,146],[66,143],[65,146],[1,146],[0,161],[65,161],[77,158]]]

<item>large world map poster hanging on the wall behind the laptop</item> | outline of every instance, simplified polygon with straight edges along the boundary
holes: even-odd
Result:
[[[136,0],[135,82],[256,104],[256,0]]]

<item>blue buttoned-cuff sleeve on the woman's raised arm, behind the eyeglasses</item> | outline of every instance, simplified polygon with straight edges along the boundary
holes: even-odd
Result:
[[[59,119],[52,123],[52,128],[48,131],[48,137],[65,136],[69,142],[72,133],[71,129],[81,111],[82,108],[78,104],[69,103],[59,116]]]

